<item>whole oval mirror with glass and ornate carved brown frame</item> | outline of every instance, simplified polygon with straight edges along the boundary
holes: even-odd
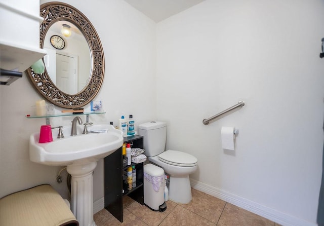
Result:
[[[47,49],[48,55],[43,58],[44,73],[36,73],[31,67],[26,70],[29,81],[57,106],[74,108],[88,104],[102,85],[105,65],[94,26],[80,11],[60,2],[41,5],[41,16],[44,21],[39,29],[39,46]],[[72,35],[64,36],[56,27],[68,27]]]

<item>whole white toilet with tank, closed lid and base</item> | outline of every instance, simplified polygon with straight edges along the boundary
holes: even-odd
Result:
[[[192,199],[189,174],[197,170],[198,160],[178,150],[166,150],[167,123],[148,122],[138,126],[138,134],[144,137],[144,154],[148,160],[170,174],[169,198],[177,203],[189,203]]]

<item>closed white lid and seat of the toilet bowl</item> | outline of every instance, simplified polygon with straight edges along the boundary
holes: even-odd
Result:
[[[196,157],[178,150],[167,150],[159,154],[158,159],[175,166],[195,166],[198,162]]]

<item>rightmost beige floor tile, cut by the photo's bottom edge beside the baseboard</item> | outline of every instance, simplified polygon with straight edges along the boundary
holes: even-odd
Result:
[[[226,203],[217,226],[274,226],[274,222]]]

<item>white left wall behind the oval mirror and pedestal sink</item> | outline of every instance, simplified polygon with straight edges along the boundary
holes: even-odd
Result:
[[[41,1],[41,4],[45,2]],[[76,0],[64,2],[88,17],[103,46],[105,76],[95,100],[103,101],[107,113],[90,116],[90,121],[113,121],[117,125],[122,112],[126,116],[133,114],[137,125],[155,118],[155,23],[124,1],[94,0],[91,5]],[[50,183],[67,198],[66,171],[62,174],[63,183],[56,182],[56,175],[62,167],[29,161],[29,135],[39,131],[45,119],[27,119],[25,115],[32,114],[31,106],[41,96],[34,91],[25,74],[12,85],[1,86],[0,92],[0,197]],[[53,118],[51,124],[67,126],[72,118]],[[85,116],[82,118],[85,120]],[[103,161],[99,161],[94,172],[94,201],[102,197]]]

